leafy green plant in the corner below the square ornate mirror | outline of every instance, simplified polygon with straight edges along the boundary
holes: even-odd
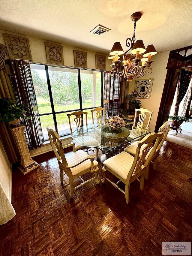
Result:
[[[121,111],[121,115],[122,116],[128,116],[131,114],[135,114],[135,109],[140,108],[141,107],[141,101],[135,99],[135,97],[137,96],[136,92],[132,92],[128,95],[123,94],[122,97],[127,99],[127,102],[122,103],[119,108],[122,109]]]

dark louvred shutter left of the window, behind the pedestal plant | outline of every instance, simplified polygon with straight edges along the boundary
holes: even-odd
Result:
[[[10,80],[13,86],[16,101],[18,104],[29,106],[29,120],[23,120],[26,126],[25,137],[29,149],[36,149],[44,143],[43,132],[37,107],[37,100],[32,81],[31,69],[29,63],[22,60],[9,60],[12,70]]]

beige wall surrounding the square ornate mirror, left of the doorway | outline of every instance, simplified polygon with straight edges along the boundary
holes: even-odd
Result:
[[[161,96],[163,93],[165,78],[167,75],[167,62],[169,58],[170,52],[165,53],[158,53],[155,56],[152,56],[152,63],[153,72],[151,75],[145,75],[142,77],[143,79],[152,79],[153,78],[153,85],[151,91],[151,98],[150,99],[140,99],[141,100],[141,107],[147,108],[150,111],[154,111],[152,114],[152,119],[150,122],[150,128],[152,131],[155,130],[155,125],[157,121],[159,106],[161,103]],[[133,81],[129,82],[129,92],[133,92],[135,89],[135,78]]]

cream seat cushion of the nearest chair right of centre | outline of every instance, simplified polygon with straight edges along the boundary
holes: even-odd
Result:
[[[133,164],[134,157],[127,152],[121,152],[104,161],[104,168],[108,167],[114,173],[118,174],[123,179],[127,179],[127,175]]]

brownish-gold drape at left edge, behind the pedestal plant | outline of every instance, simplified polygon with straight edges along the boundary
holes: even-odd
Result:
[[[10,82],[10,68],[6,64],[4,68],[0,69],[0,98],[15,99],[13,89]],[[20,160],[19,150],[16,146],[15,139],[9,129],[8,125],[0,123],[0,139],[7,154],[10,163],[16,163]]]

